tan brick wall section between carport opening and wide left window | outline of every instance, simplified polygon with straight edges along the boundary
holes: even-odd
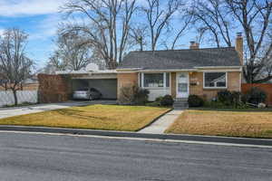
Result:
[[[122,87],[138,85],[138,73],[118,73],[117,74],[117,95],[119,98]]]

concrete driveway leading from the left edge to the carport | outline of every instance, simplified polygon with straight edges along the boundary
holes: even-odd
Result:
[[[65,109],[73,106],[86,106],[93,104],[115,104],[116,100],[92,100],[92,101],[68,101],[63,103],[38,104],[33,106],[25,106],[18,108],[2,108],[0,109],[0,119],[24,114],[42,112],[45,110]]]

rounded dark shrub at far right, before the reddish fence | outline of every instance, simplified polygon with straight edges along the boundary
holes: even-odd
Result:
[[[263,103],[267,100],[267,93],[264,90],[260,90],[258,88],[251,88],[243,96],[242,100],[252,104]]]

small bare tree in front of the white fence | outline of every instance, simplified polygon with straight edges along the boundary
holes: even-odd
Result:
[[[23,81],[31,77],[34,65],[25,54],[26,40],[27,34],[19,29],[8,29],[0,38],[0,74],[5,80],[5,88],[14,93],[15,105],[18,104],[16,92]]]

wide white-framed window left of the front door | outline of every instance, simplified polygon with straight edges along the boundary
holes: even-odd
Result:
[[[140,73],[140,86],[144,88],[169,88],[170,73]]]

